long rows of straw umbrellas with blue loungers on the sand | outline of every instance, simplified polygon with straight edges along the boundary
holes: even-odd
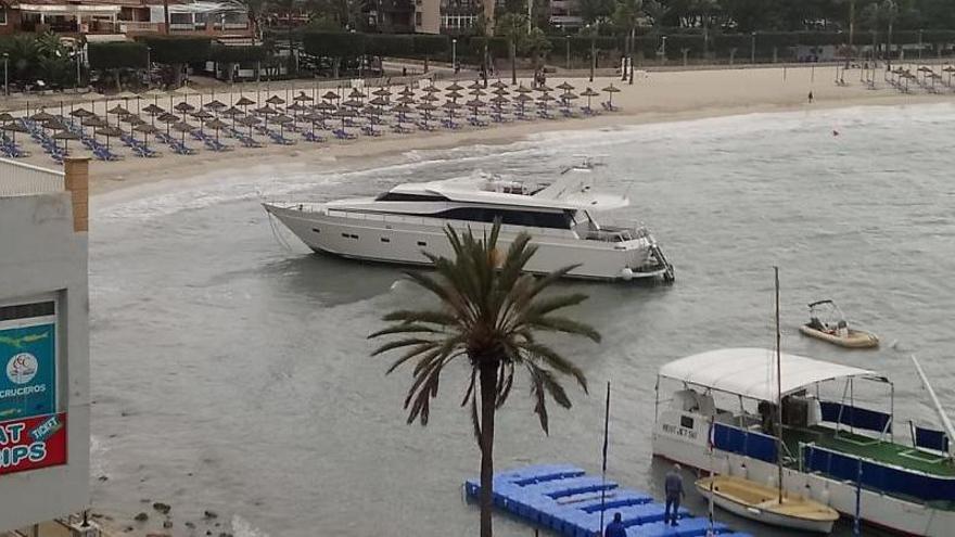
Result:
[[[71,104],[69,111],[66,112],[63,104],[61,104],[61,114],[59,116],[40,108],[38,112],[29,115],[29,118],[40,124],[44,130],[49,130],[54,140],[62,140],[64,142],[64,150],[67,149],[71,140],[79,139],[80,133],[86,135],[87,128],[90,129],[89,133],[91,136],[104,137],[106,148],[109,149],[111,138],[116,138],[127,132],[140,133],[143,136],[143,140],[148,141],[149,136],[163,131],[165,131],[166,136],[171,136],[171,131],[175,130],[180,133],[181,140],[184,142],[187,133],[196,129],[207,128],[215,131],[215,138],[218,141],[221,130],[229,127],[238,128],[238,126],[247,127],[251,133],[252,129],[259,124],[265,124],[266,127],[271,124],[278,126],[282,136],[284,136],[283,131],[286,126],[303,122],[310,123],[314,129],[318,123],[330,118],[341,118],[342,126],[344,127],[349,117],[358,117],[362,112],[373,124],[374,120],[380,119],[385,114],[385,108],[396,114],[399,118],[417,112],[423,115],[424,122],[428,122],[431,119],[431,114],[438,110],[444,110],[450,117],[454,117],[458,110],[469,108],[476,116],[480,110],[488,106],[500,111],[502,107],[513,104],[523,111],[524,106],[532,101],[537,101],[546,107],[548,102],[559,100],[569,108],[571,101],[586,98],[587,107],[589,108],[591,99],[600,94],[589,87],[580,94],[574,93],[574,89],[573,85],[562,82],[556,89],[549,88],[546,85],[527,88],[522,84],[511,90],[507,84],[498,80],[489,85],[489,88],[486,88],[480,81],[474,81],[469,86],[454,82],[444,90],[432,84],[419,90],[423,93],[421,97],[418,97],[416,90],[410,87],[405,87],[398,91],[392,91],[389,88],[382,87],[368,93],[358,88],[353,88],[348,93],[345,93],[344,90],[341,92],[327,91],[320,97],[316,94],[315,90],[313,90],[311,94],[298,91],[296,95],[291,97],[286,90],[284,99],[279,94],[272,94],[265,99],[259,106],[258,101],[246,97],[244,93],[240,93],[239,99],[234,101],[234,94],[229,93],[230,104],[219,101],[215,98],[214,93],[209,95],[211,100],[205,102],[204,98],[206,94],[183,87],[171,93],[153,90],[142,94],[124,92],[114,95],[112,99],[98,94],[88,97],[87,100],[89,101],[94,101],[98,97],[102,97],[106,106],[109,106],[109,101],[111,100],[114,102],[125,102],[125,105],[115,104],[109,107],[105,110],[105,114],[102,115],[98,115],[93,111],[84,106],[77,106],[76,104]],[[561,91],[557,98],[550,95],[555,90]],[[608,93],[609,101],[612,103],[613,93],[619,92],[620,89],[611,84],[603,88],[602,91]],[[539,92],[540,95],[536,99],[530,97],[534,92]],[[444,95],[445,102],[438,106],[436,102],[441,101],[438,97],[441,93],[446,93]],[[513,93],[513,97],[511,97],[511,93]],[[182,99],[179,102],[174,102],[177,94]],[[464,97],[466,94],[468,98]],[[493,97],[482,100],[482,98],[488,94]],[[188,101],[189,97],[194,95],[200,98],[198,106]],[[142,102],[150,100],[150,98],[153,102],[143,106]],[[169,100],[168,107],[163,107],[160,105],[160,99],[166,98]],[[130,102],[136,103],[135,112],[131,110]],[[94,104],[91,107],[96,110]],[[250,107],[252,108],[250,110]],[[147,116],[149,120],[144,118]],[[79,126],[79,133],[76,128],[69,128],[66,125],[67,118],[72,118],[74,125]],[[200,126],[194,126],[190,120],[199,122]],[[231,120],[231,125],[227,120]],[[15,122],[15,118],[9,113],[0,113],[0,124],[2,124],[0,128],[12,132],[14,137],[16,132],[25,132],[27,130],[20,123]],[[127,125],[126,129],[123,128],[124,124]]]

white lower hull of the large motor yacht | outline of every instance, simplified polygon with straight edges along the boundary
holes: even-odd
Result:
[[[336,216],[322,209],[272,204],[264,204],[264,207],[315,252],[379,263],[426,266],[430,261],[423,252],[453,255],[445,236],[447,223],[459,231],[470,228],[476,234],[491,230],[491,225],[483,222],[435,222],[383,215]],[[498,247],[506,251],[519,231],[502,226]],[[538,250],[527,264],[529,272],[545,273],[581,264],[569,277],[591,280],[670,280],[673,277],[673,268],[650,236],[614,243],[571,238],[562,230],[531,231],[531,234]]]

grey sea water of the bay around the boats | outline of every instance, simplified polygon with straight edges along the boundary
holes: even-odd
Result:
[[[546,436],[520,378],[497,418],[498,469],[598,472],[611,381],[609,474],[659,493],[657,369],[718,347],[772,347],[773,266],[785,350],[884,371],[900,420],[932,420],[908,355],[955,408],[953,125],[950,104],[753,114],[412,152],[354,172],[270,164],[94,199],[93,502],[120,525],[149,509],[144,500],[170,503],[177,535],[205,509],[242,535],[476,535],[476,508],[461,498],[479,470],[459,407],[466,365],[447,369],[421,427],[402,408],[410,371],[385,376],[391,358],[369,357],[381,316],[422,304],[421,293],[403,269],[311,254],[259,201],[370,195],[475,172],[547,181],[582,155],[604,164],[601,190],[633,202],[611,217],[648,225],[677,281],[560,285],[589,295],[569,315],[603,336],[556,342],[590,395],[566,381],[574,407],[551,405]],[[805,305],[822,298],[878,333],[882,348],[845,351],[799,335]],[[873,394],[887,408],[884,392]],[[690,507],[704,510],[698,499]],[[512,519],[496,524],[498,535],[532,535]]]

